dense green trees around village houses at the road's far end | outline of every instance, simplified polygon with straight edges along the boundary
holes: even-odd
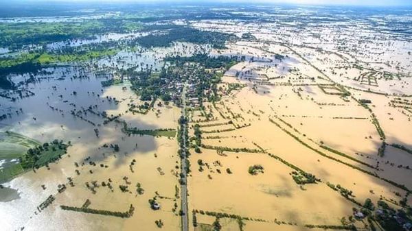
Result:
[[[131,89],[140,96],[142,101],[154,101],[162,99],[163,101],[174,101],[179,106],[181,103],[180,95],[181,83],[187,82],[192,85],[194,91],[187,95],[188,98],[196,97],[198,104],[203,104],[203,99],[207,97],[210,101],[216,101],[217,84],[220,82],[220,77],[216,72],[222,71],[222,68],[228,68],[235,64],[236,58],[220,56],[211,58],[207,54],[198,54],[192,57],[169,57],[165,58],[166,62],[170,62],[170,66],[162,68],[159,72],[152,69],[144,71],[135,67],[119,70],[122,76],[130,77]],[[190,65],[184,65],[190,62]],[[214,70],[208,70],[213,68]],[[130,111],[139,112],[147,111],[151,104],[143,104],[141,106],[130,105]],[[135,110],[139,108],[139,110]]]

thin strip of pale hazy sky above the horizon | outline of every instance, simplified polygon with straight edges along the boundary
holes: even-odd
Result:
[[[8,0],[0,0],[0,2]],[[19,1],[19,0],[17,0]],[[136,3],[149,3],[149,2],[190,2],[190,3],[205,3],[205,2],[222,2],[222,3],[293,3],[293,4],[308,4],[308,5],[371,5],[371,6],[384,6],[384,5],[412,5],[412,0],[20,0],[19,2],[136,2]]]

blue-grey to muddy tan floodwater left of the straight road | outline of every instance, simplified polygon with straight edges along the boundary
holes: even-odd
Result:
[[[183,47],[176,50],[170,48],[170,53],[179,50],[183,51]],[[144,58],[141,61],[144,62]],[[104,125],[103,117],[87,110],[91,108],[97,114],[107,112],[109,117],[122,114],[120,120],[127,119],[128,123],[144,129],[156,129],[176,128],[179,109],[174,106],[155,106],[155,110],[146,115],[127,114],[127,104],[130,101],[138,102],[139,97],[130,90],[130,84],[103,88],[100,82],[110,76],[112,73],[100,74],[80,66],[58,66],[36,74],[35,82],[28,84],[22,91],[22,99],[12,92],[10,97],[18,98],[16,101],[0,98],[0,114],[10,114],[0,122],[1,132],[18,132],[41,143],[57,138],[66,143],[71,141],[72,144],[62,160],[51,164],[49,170],[43,167],[36,172],[29,171],[3,184],[4,188],[0,189],[0,226],[4,230],[23,227],[25,230],[54,230],[56,227],[66,230],[133,230],[137,223],[146,230],[152,230],[156,228],[155,219],[162,219],[168,230],[179,230],[179,217],[172,212],[176,200],[173,199],[175,185],[179,184],[174,172],[176,161],[179,160],[175,138],[127,136],[122,132],[121,124],[112,121]],[[14,82],[20,82],[27,80],[30,75],[10,77]],[[104,147],[105,144],[118,144],[120,150],[115,152]],[[130,171],[133,159],[137,163]],[[95,162],[96,166],[89,165],[89,161]],[[75,167],[75,162],[80,167]],[[100,167],[100,164],[107,167]],[[76,169],[80,175],[76,174]],[[159,174],[160,171],[163,174]],[[130,193],[119,191],[119,185],[124,184],[124,176],[131,182]],[[69,177],[73,178],[74,187],[67,184]],[[113,193],[109,193],[107,187],[100,186],[106,189],[97,189],[98,192],[93,194],[84,186],[93,180],[99,184],[107,182],[108,178],[112,180]],[[142,184],[144,195],[137,195],[137,182]],[[43,184],[45,189],[42,189]],[[57,193],[58,184],[67,184],[68,189]],[[148,206],[148,199],[154,197],[155,192],[172,198],[160,199],[163,207],[156,212]],[[37,206],[49,195],[54,195],[56,201],[39,212]],[[139,212],[130,219],[121,219],[69,212],[59,207],[80,207],[86,199],[91,200],[91,208],[123,212],[133,204]],[[141,211],[145,211],[145,215]]]

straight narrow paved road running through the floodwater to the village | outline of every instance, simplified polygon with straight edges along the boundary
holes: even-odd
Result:
[[[182,116],[186,117],[186,84],[183,86],[183,92],[182,92]],[[183,138],[183,149],[186,150],[186,136],[185,136],[185,131],[186,131],[186,124],[183,125],[183,132],[182,132],[182,138]],[[189,226],[188,226],[188,218],[187,218],[187,179],[186,179],[186,155],[184,155],[184,158],[181,159],[181,171],[183,173],[183,181],[184,184],[181,184],[181,199],[182,199],[182,210],[183,210],[183,215],[182,215],[182,230],[183,231],[188,231]]]

